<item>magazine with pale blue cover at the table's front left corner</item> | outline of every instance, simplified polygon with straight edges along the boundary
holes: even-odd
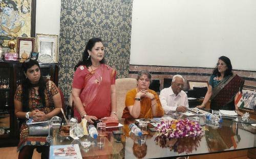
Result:
[[[50,146],[50,159],[82,159],[78,144]]]

